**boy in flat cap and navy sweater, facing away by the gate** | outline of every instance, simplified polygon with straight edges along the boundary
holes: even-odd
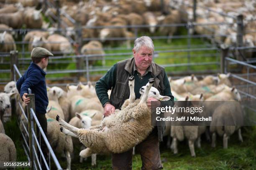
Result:
[[[51,52],[42,47],[33,48],[31,52],[32,62],[24,75],[17,81],[17,89],[20,93],[20,97],[23,102],[28,104],[30,99],[26,97],[28,95],[28,88],[31,89],[31,92],[35,94],[35,106],[36,106],[36,117],[47,137],[47,120],[45,117],[46,108],[48,106],[48,97],[47,97],[47,89],[45,82],[44,68],[48,65],[49,56],[53,56]],[[27,109],[25,108],[25,111]],[[39,129],[37,128],[37,139],[39,142]],[[41,136],[41,149],[47,157],[47,146]],[[39,154],[38,154],[39,155]],[[40,160],[40,159],[39,159]],[[42,163],[44,165],[44,163]],[[44,169],[45,167],[42,166]]]

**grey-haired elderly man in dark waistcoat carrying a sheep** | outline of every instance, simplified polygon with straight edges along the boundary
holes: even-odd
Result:
[[[163,67],[152,62],[153,52],[154,44],[150,37],[142,36],[137,38],[134,41],[133,58],[117,62],[96,83],[95,89],[104,107],[105,116],[114,113],[115,109],[120,109],[123,102],[129,98],[129,75],[135,77],[134,92],[136,99],[141,96],[139,93],[140,88],[146,85],[149,78],[154,78],[153,86],[159,90],[160,94],[171,97],[168,102],[162,102],[161,106],[174,105],[174,97],[172,96],[168,77]],[[109,89],[112,89],[110,99],[107,93]],[[156,101],[156,99],[148,98],[148,107],[151,107],[151,101]],[[136,146],[141,154],[142,170],[159,170],[163,168],[160,159],[159,141],[162,141],[164,130],[165,124],[155,127],[151,134]],[[113,153],[113,170],[131,170],[132,153],[132,149],[125,153]]]

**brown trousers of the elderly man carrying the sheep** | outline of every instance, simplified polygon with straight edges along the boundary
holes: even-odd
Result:
[[[136,145],[136,149],[141,154],[141,170],[163,169],[160,159],[157,128],[154,128],[145,140]],[[133,149],[124,153],[112,153],[113,170],[132,170],[132,157]]]

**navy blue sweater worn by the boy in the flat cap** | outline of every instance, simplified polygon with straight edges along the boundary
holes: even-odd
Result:
[[[46,107],[48,106],[45,75],[46,72],[43,69],[31,62],[28,70],[16,84],[21,98],[24,93],[28,93],[28,88],[35,94],[36,112],[39,113],[46,113]]]

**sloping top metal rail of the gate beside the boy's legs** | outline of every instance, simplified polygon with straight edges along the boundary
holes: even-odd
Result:
[[[49,153],[51,154],[52,159],[54,160],[54,163],[55,163],[56,167],[58,168],[58,170],[62,170],[62,168],[61,168],[61,166],[60,166],[60,164],[59,164],[59,161],[58,161],[58,159],[56,158],[56,155],[54,154],[54,151],[52,150],[51,145],[50,145],[49,141],[47,140],[46,135],[44,134],[44,131],[43,131],[43,129],[41,128],[40,123],[38,122],[38,119],[37,119],[37,117],[36,117],[36,114],[35,114],[34,110],[31,109],[31,112],[32,112],[32,114],[33,114],[34,119],[36,120],[36,124],[37,124],[37,126],[38,126],[38,128],[39,128],[39,130],[40,130],[40,132],[41,132],[41,135],[43,136],[43,139],[44,139],[44,141],[45,141],[45,143],[46,143],[47,148],[49,149]]]

